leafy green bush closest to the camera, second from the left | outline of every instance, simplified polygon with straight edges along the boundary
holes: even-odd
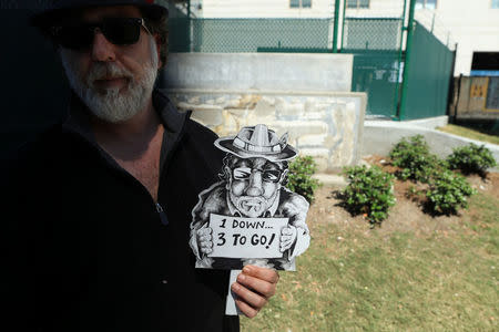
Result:
[[[380,225],[395,205],[393,191],[394,176],[379,167],[348,167],[344,170],[348,186],[342,193],[344,204],[354,214],[364,214],[373,225]]]

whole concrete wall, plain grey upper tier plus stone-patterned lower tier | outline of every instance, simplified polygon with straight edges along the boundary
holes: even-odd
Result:
[[[161,85],[220,136],[266,124],[333,173],[359,162],[367,96],[352,93],[352,54],[179,53]]]

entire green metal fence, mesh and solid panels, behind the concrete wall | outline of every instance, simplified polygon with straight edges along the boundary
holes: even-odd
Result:
[[[335,3],[339,1],[344,0]],[[413,22],[415,0],[400,0],[397,18],[354,18],[344,13],[340,22],[334,18],[176,17],[170,19],[170,51],[350,53],[352,91],[367,93],[368,116],[409,120],[442,115],[454,53],[417,22],[403,51],[408,1],[413,8],[408,21]],[[335,40],[340,41],[339,46],[334,48]],[[407,64],[406,59],[410,60]],[[404,66],[407,70],[403,75]]]

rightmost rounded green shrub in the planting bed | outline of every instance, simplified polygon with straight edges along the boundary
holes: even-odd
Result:
[[[446,169],[434,175],[426,196],[432,212],[450,215],[467,208],[467,198],[475,193],[464,176]]]

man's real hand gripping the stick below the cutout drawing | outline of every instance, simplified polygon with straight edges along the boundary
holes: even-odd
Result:
[[[275,294],[279,274],[275,270],[255,266],[245,266],[237,276],[237,281],[231,286],[237,295],[237,308],[248,318],[254,318],[258,311]]]

